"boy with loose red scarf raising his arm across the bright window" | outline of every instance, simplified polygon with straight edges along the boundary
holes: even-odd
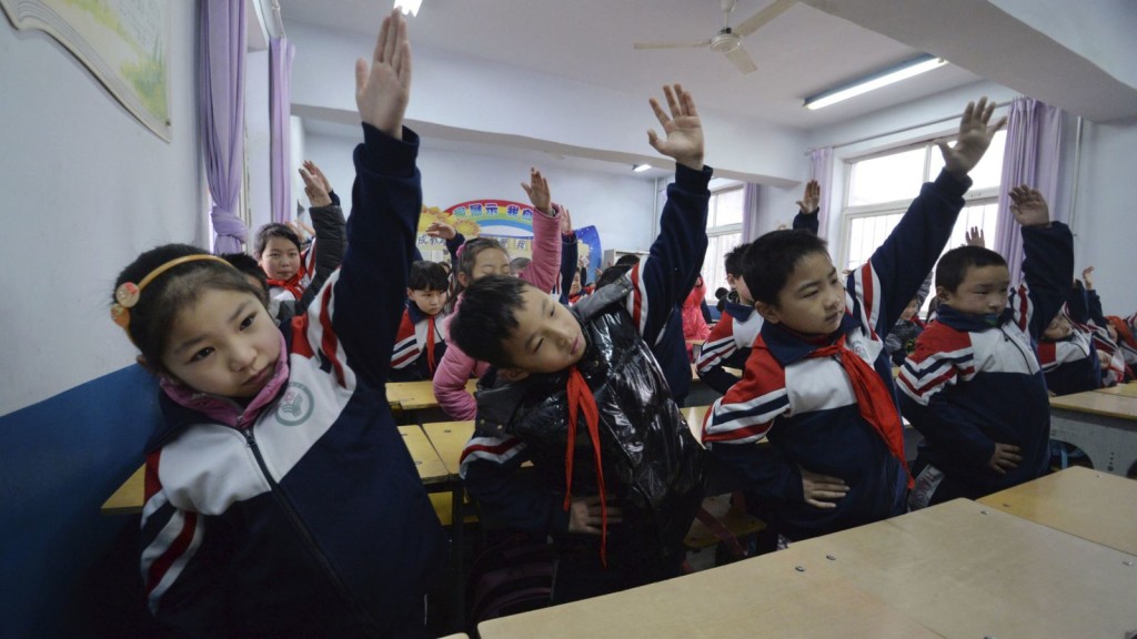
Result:
[[[945,167],[866,264],[841,281],[822,240],[774,231],[746,251],[764,323],[742,381],[707,413],[703,441],[773,504],[788,540],[904,512],[910,476],[883,340],[951,239],[991,135],[994,103],[969,103]],[[757,443],[767,439],[770,446]]]

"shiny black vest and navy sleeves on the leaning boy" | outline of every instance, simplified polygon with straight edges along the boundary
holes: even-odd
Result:
[[[623,587],[638,584],[636,575],[647,574],[656,559],[681,561],[683,536],[702,501],[702,450],[670,398],[650,345],[703,264],[709,176],[709,168],[679,166],[649,257],[573,307],[588,342],[576,368],[599,410],[607,491],[623,509],[623,522],[609,524],[607,549],[609,567],[631,575]],[[570,534],[563,504],[567,371],[513,383],[493,373],[480,383],[474,437],[462,456],[466,489],[487,521],[590,545],[596,556],[599,537]],[[579,423],[578,432],[587,433],[583,416]],[[573,453],[575,497],[598,490],[588,439],[579,434]],[[518,474],[526,460],[536,472]]]

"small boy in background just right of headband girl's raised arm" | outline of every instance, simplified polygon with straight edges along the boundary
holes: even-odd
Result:
[[[392,382],[417,382],[434,377],[446,354],[446,307],[450,279],[441,265],[410,264],[407,302],[391,351]]]

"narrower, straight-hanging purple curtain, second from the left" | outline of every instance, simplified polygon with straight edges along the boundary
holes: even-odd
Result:
[[[292,57],[296,47],[288,38],[268,43],[269,173],[273,186],[273,222],[292,218],[292,175],[289,169],[289,116],[292,109]]]

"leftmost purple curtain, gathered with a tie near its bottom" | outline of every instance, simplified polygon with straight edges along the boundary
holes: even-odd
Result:
[[[244,2],[201,0],[198,94],[214,252],[240,252],[249,230],[236,216],[244,168]]]

